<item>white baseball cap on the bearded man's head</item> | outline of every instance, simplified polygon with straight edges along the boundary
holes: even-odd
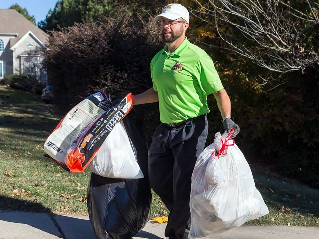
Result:
[[[189,12],[186,7],[181,4],[172,3],[164,7],[161,14],[157,15],[154,20],[158,21],[161,17],[176,20],[178,18],[183,18],[185,21],[189,22]]]

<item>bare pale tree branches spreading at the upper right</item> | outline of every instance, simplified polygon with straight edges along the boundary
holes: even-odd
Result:
[[[193,1],[197,6],[190,12],[216,29],[222,43],[204,44],[232,51],[280,73],[319,64],[318,1]]]

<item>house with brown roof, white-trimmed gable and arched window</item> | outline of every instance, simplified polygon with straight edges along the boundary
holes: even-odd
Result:
[[[14,9],[0,9],[0,80],[12,74],[33,74],[43,83],[41,49],[48,34]]]

